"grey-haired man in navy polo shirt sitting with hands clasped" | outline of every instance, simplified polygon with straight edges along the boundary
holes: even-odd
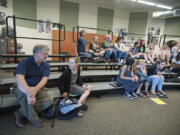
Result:
[[[18,127],[23,127],[24,117],[32,126],[42,127],[38,113],[48,109],[53,103],[44,88],[50,74],[50,67],[46,62],[48,51],[46,45],[34,46],[33,56],[23,59],[16,69],[13,93],[20,104],[20,108],[15,111]]]

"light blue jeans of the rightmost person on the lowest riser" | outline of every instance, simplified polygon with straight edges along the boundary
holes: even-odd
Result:
[[[164,77],[157,77],[156,75],[149,76],[150,82],[152,82],[151,91],[156,89],[158,92],[162,90],[164,83]]]

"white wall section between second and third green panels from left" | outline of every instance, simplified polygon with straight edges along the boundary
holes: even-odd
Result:
[[[97,28],[97,10],[96,5],[91,3],[80,3],[79,7],[79,26]],[[87,29],[87,32],[96,33],[96,30]]]

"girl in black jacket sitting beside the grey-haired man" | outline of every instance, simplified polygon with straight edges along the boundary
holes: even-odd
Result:
[[[90,94],[91,86],[84,85],[81,81],[77,57],[69,59],[69,67],[59,77],[58,87],[62,97],[67,97],[70,94],[80,96],[78,102],[83,104],[83,108],[87,108],[84,104]],[[83,116],[83,114],[79,112],[78,116]]]

